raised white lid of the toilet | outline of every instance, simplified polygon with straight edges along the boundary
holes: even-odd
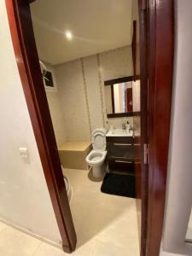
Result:
[[[105,132],[95,131],[92,134],[92,145],[94,150],[104,151],[106,149]]]

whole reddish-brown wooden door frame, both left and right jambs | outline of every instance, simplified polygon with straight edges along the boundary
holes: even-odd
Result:
[[[63,248],[67,253],[71,253],[75,249],[76,234],[40,72],[29,2],[26,0],[5,1],[15,57],[44,176],[61,232]],[[146,30],[146,40],[148,41],[146,48],[148,51],[145,52],[147,58],[145,67],[148,66],[148,71],[147,77],[146,73],[143,73],[141,83],[144,82],[144,86],[146,86],[148,80],[149,107],[149,163],[148,175],[145,177],[148,181],[148,190],[146,201],[143,201],[141,255],[159,256],[166,198],[166,169],[172,102],[173,0],[139,0],[139,6],[140,18],[142,18],[140,22],[146,22],[144,23],[144,32]],[[144,69],[143,72],[145,72]],[[146,193],[146,189],[144,191]]]

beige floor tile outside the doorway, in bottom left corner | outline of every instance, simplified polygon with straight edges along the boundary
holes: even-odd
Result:
[[[41,241],[11,227],[0,232],[0,255],[32,256]]]

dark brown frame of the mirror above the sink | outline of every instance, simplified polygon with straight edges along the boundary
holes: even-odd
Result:
[[[138,111],[138,112],[126,112],[126,113],[114,113],[113,84],[122,84],[122,83],[136,81],[136,80],[140,80],[139,75],[104,81],[105,86],[111,86],[111,95],[112,95],[113,113],[107,113],[108,119],[140,115],[140,111]]]

